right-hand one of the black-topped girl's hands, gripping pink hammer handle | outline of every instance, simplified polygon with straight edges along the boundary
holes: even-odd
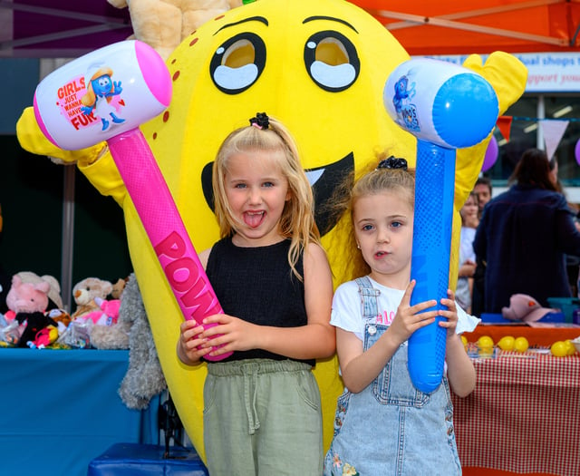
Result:
[[[211,348],[214,345],[223,345],[209,353],[217,356],[236,350],[250,350],[258,348],[257,336],[261,335],[257,325],[250,324],[238,317],[227,314],[216,314],[206,317],[203,324],[218,324],[208,327],[202,334],[206,339],[204,346]],[[218,337],[212,338],[215,335]]]

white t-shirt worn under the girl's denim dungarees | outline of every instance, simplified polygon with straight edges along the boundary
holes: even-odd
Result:
[[[377,300],[379,316],[376,316],[375,323],[391,325],[405,291],[384,287],[371,277],[369,279],[371,279],[372,287],[381,291]],[[362,319],[361,299],[356,281],[347,281],[339,286],[334,292],[330,323],[347,332],[352,332],[363,341],[365,323]],[[457,334],[471,332],[481,321],[478,317],[469,316],[459,305],[457,314],[459,317],[455,331]]]

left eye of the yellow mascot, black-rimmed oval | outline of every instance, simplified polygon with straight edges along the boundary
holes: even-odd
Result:
[[[237,34],[219,46],[211,58],[209,75],[221,92],[246,91],[264,71],[266,44],[256,34]]]

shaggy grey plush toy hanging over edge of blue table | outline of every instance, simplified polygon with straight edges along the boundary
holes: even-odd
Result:
[[[134,273],[127,280],[120,298],[117,324],[95,325],[91,344],[98,349],[129,347],[129,369],[119,387],[119,395],[127,407],[142,410],[149,406],[153,396],[167,388],[167,383]]]

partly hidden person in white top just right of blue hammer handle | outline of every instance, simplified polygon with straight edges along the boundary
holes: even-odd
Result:
[[[459,277],[455,299],[459,306],[471,314],[471,296],[473,289],[473,275],[476,268],[476,256],[473,251],[473,238],[478,228],[478,194],[472,191],[468,199],[459,210],[461,215],[461,235],[459,238]]]

